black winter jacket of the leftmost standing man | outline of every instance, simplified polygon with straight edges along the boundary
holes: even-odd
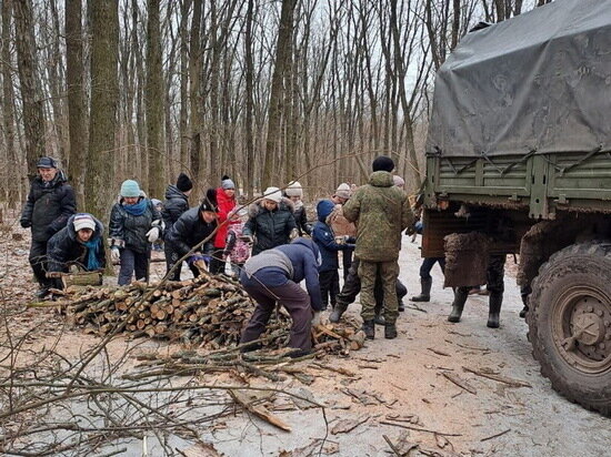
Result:
[[[63,228],[76,212],[74,191],[67,184],[63,171],[58,170],[49,183],[40,176],[32,181],[20,223],[24,228],[32,227],[32,241],[46,242]]]

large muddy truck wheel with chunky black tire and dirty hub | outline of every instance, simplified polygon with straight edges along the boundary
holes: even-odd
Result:
[[[611,416],[611,243],[553,254],[532,283],[532,355],[562,396]]]

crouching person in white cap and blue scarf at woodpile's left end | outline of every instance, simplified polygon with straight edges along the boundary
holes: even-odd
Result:
[[[86,272],[103,270],[103,232],[102,223],[91,214],[72,215],[68,224],[51,236],[47,244],[49,276],[53,276],[53,273],[68,273],[71,265]],[[57,285],[61,287],[59,282]]]

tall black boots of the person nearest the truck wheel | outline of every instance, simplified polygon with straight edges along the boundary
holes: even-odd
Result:
[[[488,326],[490,328],[499,328],[499,318],[501,314],[501,305],[503,303],[504,292],[504,255],[491,255],[488,258],[488,268],[485,271],[489,302],[488,302]],[[471,286],[457,287],[454,292],[454,302],[452,303],[452,312],[448,316],[450,322],[459,322],[464,308],[464,302],[469,296]]]

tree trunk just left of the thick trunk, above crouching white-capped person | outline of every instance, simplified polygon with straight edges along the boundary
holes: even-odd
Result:
[[[81,2],[66,0],[66,80],[68,87],[68,132],[70,161],[68,175],[77,194],[77,207],[84,207],[84,161],[87,111],[84,99],[84,62],[82,58]]]

